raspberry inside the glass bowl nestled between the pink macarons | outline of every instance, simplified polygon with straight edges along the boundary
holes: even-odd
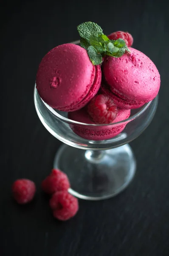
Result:
[[[96,95],[89,102],[87,111],[96,124],[110,124],[118,113],[113,99],[106,94]]]

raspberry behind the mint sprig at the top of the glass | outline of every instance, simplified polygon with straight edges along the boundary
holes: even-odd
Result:
[[[129,34],[128,32],[117,31],[117,32],[111,33],[107,37],[110,40],[117,40],[118,38],[121,38],[125,41],[125,43],[128,47],[132,46],[132,43],[133,43],[132,35]]]

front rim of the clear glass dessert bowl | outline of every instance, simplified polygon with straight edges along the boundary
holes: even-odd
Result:
[[[39,95],[39,93],[37,91],[37,88],[36,88],[36,84],[35,84],[35,87],[34,87],[34,98],[36,98],[37,94]],[[119,122],[113,122],[113,123],[110,123],[110,124],[87,124],[87,123],[83,123],[83,122],[74,121],[72,119],[69,119],[67,117],[64,117],[64,116],[60,115],[59,113],[57,113],[54,110],[54,108],[51,108],[47,103],[45,103],[40,96],[39,96],[39,98],[41,99],[43,105],[45,105],[45,108],[47,108],[47,110],[49,112],[51,112],[54,116],[56,116],[56,118],[59,118],[59,119],[61,119],[64,122],[71,123],[71,124],[74,124],[74,125],[83,125],[83,126],[89,126],[90,125],[90,126],[94,126],[94,127],[110,126],[110,125],[120,125],[120,124],[122,125],[122,124],[124,124],[126,122],[130,122],[133,119],[136,119],[138,116],[141,116],[141,114],[144,113],[144,111],[146,111],[146,109],[149,107],[149,105],[152,102],[152,101],[149,101],[149,102],[145,103],[137,113],[135,113],[134,115],[130,116],[129,118],[121,120]]]

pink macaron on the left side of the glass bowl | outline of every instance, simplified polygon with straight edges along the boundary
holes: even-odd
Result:
[[[101,68],[76,44],[62,44],[42,59],[37,71],[37,90],[44,102],[60,111],[83,108],[99,90]]]

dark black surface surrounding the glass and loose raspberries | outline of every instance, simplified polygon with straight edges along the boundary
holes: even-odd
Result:
[[[169,256],[169,3],[165,1],[0,2],[0,255]],[[58,44],[77,40],[76,26],[98,23],[105,34],[128,31],[161,74],[159,105],[131,143],[137,172],[115,198],[79,200],[67,222],[52,217],[40,189],[61,145],[40,123],[33,90],[38,64]],[[19,206],[11,184],[29,178],[36,199]]]

